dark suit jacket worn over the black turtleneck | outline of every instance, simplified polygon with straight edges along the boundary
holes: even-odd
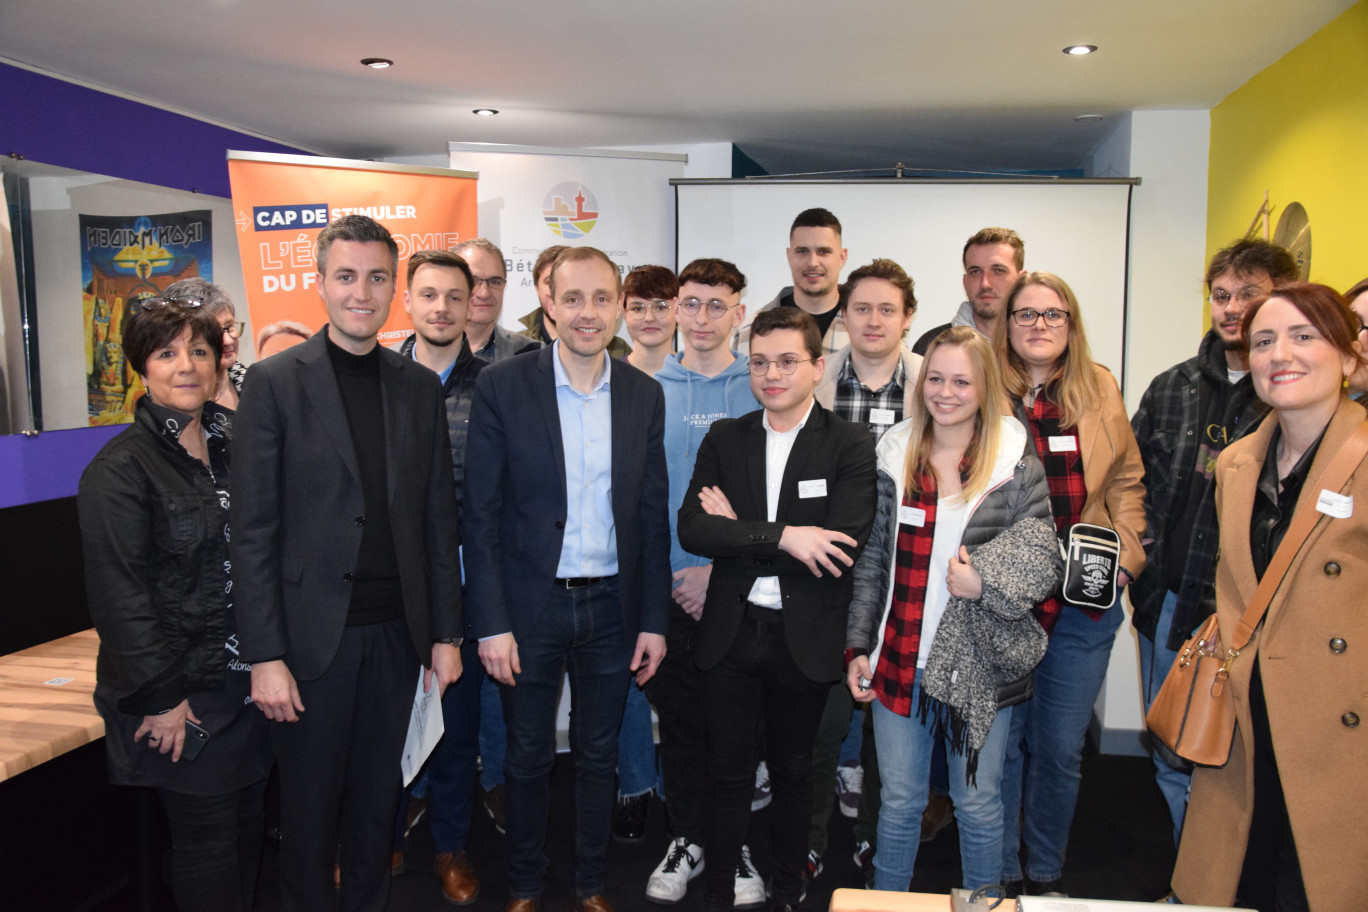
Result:
[[[384,461],[404,611],[424,665],[462,633],[460,532],[442,384],[380,349]],[[337,655],[365,521],[360,470],[324,332],[252,365],[233,439],[234,603],[242,658],[295,678]]]

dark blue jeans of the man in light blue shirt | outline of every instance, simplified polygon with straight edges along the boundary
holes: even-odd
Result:
[[[613,827],[617,733],[631,681],[617,577],[580,589],[553,589],[536,626],[517,644],[523,673],[499,686],[508,725],[505,811],[509,893],[538,898],[546,881],[546,818],[555,762],[561,678],[570,678],[575,762],[575,894],[603,891]]]

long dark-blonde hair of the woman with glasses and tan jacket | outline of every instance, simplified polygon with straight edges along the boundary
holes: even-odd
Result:
[[[1093,362],[1092,349],[1088,347],[1088,334],[1083,331],[1083,314],[1078,310],[1078,298],[1074,297],[1068,283],[1053,272],[1023,272],[1007,295],[1007,306],[999,314],[997,325],[993,330],[993,349],[997,351],[997,362],[1003,371],[1003,386],[1007,388],[1007,394],[1015,399],[1023,398],[1036,386],[1031,383],[1026,362],[1012,349],[1008,338],[1011,335],[1012,305],[1016,302],[1016,297],[1030,286],[1049,289],[1068,308],[1068,342],[1064,343],[1064,353],[1051,366],[1049,376],[1045,379],[1045,397],[1059,406],[1060,424],[1073,428],[1089,410],[1103,403],[1105,391],[1097,380],[1097,366]]]

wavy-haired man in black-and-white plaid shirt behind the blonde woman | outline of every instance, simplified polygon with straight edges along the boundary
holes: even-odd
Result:
[[[874,260],[850,275],[840,306],[851,342],[832,356],[817,384],[817,401],[866,428],[877,446],[884,432],[903,420],[917,394],[922,356],[908,351],[903,340],[917,313],[912,279],[892,260]],[[804,882],[824,870],[826,823],[837,797],[841,814],[860,818],[855,824],[856,863],[873,871],[878,768],[874,752],[862,751],[860,727],[867,714],[862,712],[852,729],[854,711],[845,682],[832,685],[813,748],[813,820]],[[873,732],[867,736],[873,738]],[[862,801],[866,782],[874,796]]]

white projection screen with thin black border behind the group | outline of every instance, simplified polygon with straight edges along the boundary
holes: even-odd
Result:
[[[1026,268],[1055,272],[1078,295],[1093,360],[1123,380],[1130,189],[1122,180],[688,180],[676,179],[677,263],[731,260],[748,310],[793,282],[784,256],[803,209],[841,222],[845,271],[888,257],[917,283],[908,346],[964,301],[962,252],[979,228],[1015,230]]]

